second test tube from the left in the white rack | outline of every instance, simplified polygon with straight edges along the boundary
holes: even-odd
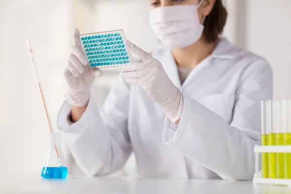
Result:
[[[269,107],[269,145],[275,146],[275,132],[276,132],[276,103],[275,101],[268,100]],[[271,122],[272,120],[272,122]],[[269,153],[269,178],[276,178],[276,153]]]

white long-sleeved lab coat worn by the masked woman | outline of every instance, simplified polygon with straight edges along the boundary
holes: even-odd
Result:
[[[133,151],[139,177],[251,179],[260,144],[260,100],[272,98],[268,62],[222,39],[181,86],[170,49],[153,52],[184,96],[177,128],[138,86],[119,79],[99,112],[94,99],[81,119],[58,127],[88,175],[120,170]]]

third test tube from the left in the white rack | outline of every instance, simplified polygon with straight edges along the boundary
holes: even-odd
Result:
[[[283,118],[282,118],[282,102],[283,100],[275,101],[275,117],[276,117],[276,133],[275,133],[275,144],[276,146],[284,145],[284,131],[282,128]],[[284,153],[276,153],[276,178],[284,178],[285,177],[285,164],[284,164]]]

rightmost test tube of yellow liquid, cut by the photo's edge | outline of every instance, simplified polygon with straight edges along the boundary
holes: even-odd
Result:
[[[285,122],[286,125],[284,126],[284,145],[291,146],[291,100],[285,102]],[[285,178],[291,178],[291,153],[284,153],[285,158]]]

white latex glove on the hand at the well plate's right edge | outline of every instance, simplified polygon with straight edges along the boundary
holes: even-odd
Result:
[[[120,77],[128,83],[142,87],[167,114],[172,122],[181,118],[183,112],[183,95],[169,79],[162,63],[130,41],[127,48],[140,57],[143,63],[130,63],[119,67]]]

